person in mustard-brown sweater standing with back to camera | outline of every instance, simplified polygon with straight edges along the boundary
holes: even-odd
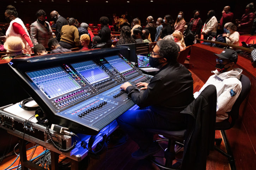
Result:
[[[79,32],[75,25],[75,19],[69,18],[68,25],[64,25],[60,32],[60,46],[71,49],[79,47]]]

